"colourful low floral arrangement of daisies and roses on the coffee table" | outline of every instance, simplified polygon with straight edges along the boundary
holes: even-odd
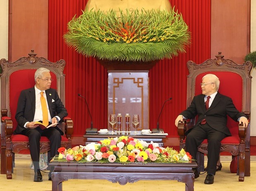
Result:
[[[182,149],[180,152],[169,147],[159,147],[159,144],[147,143],[133,137],[111,137],[86,146],[76,146],[72,149],[58,149],[59,161],[100,162],[100,163],[182,163],[191,161],[191,155]]]

